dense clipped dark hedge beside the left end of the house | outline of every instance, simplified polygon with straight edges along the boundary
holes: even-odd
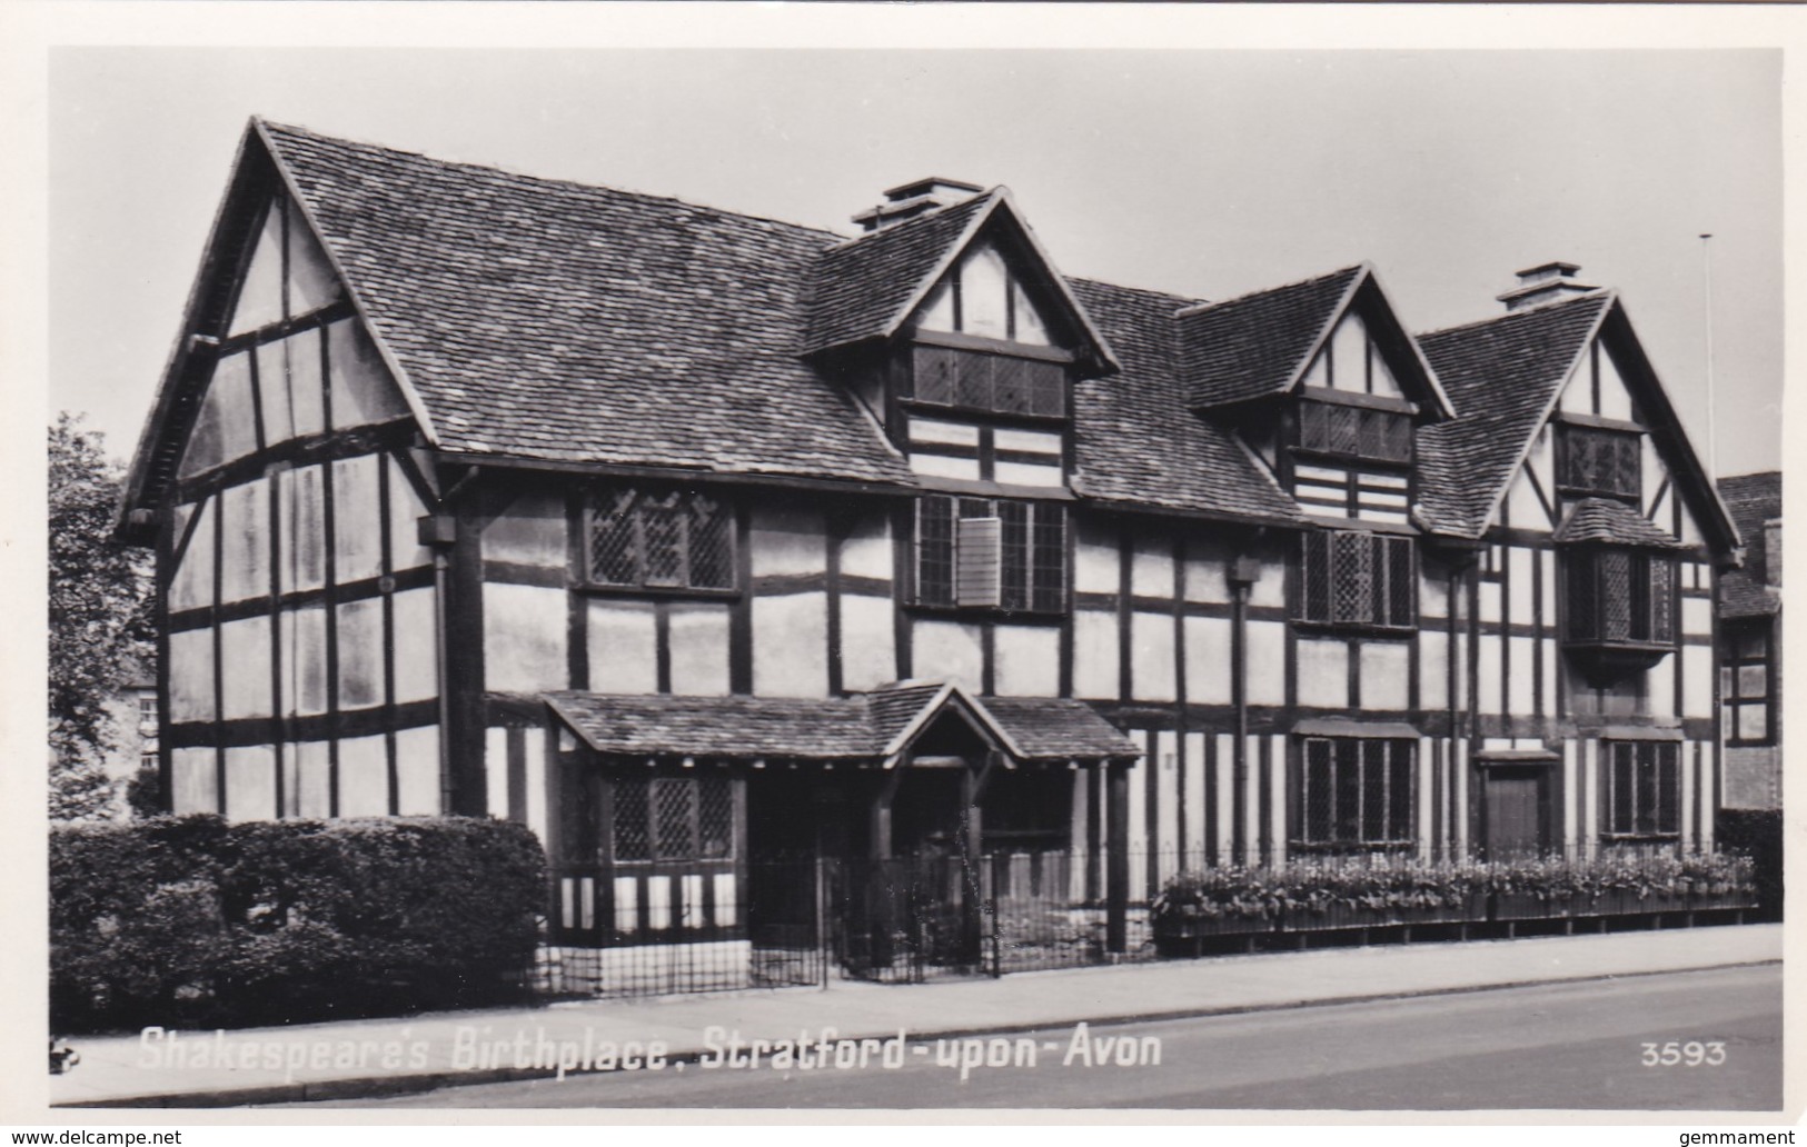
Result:
[[[520,995],[546,898],[522,825],[159,816],[51,831],[58,1031],[246,1026]]]

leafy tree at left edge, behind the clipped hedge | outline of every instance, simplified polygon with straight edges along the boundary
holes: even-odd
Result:
[[[143,549],[116,542],[121,470],[103,435],[63,412],[51,426],[51,818],[108,811],[116,748],[108,701],[154,645]]]

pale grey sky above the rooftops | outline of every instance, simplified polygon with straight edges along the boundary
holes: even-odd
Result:
[[[1411,331],[1561,258],[1704,459],[1713,233],[1717,468],[1780,464],[1780,51],[58,47],[49,405],[116,455],[253,114],[849,233],[922,175],[1006,184],[1066,275],[1229,298],[1366,260]]]

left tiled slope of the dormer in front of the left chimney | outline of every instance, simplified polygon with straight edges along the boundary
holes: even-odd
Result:
[[[904,307],[996,193],[905,219],[817,255],[804,350],[889,336]]]

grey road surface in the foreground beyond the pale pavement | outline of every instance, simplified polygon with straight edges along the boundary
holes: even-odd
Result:
[[[754,1035],[795,1033],[744,1033],[744,1040]],[[842,1053],[855,1064],[846,1069],[773,1068],[770,1051],[757,1068],[734,1068],[730,1057],[752,1060],[723,1040],[714,1068],[667,1064],[309,1105],[1773,1111],[1782,1107],[1782,968],[1055,1028],[976,1046],[909,1040],[904,1048],[893,1053],[898,1068],[884,1066],[880,1046],[866,1048],[866,1068],[857,1066],[857,1049]],[[1008,1064],[992,1066],[997,1058]],[[963,1071],[963,1060],[978,1066]]]

